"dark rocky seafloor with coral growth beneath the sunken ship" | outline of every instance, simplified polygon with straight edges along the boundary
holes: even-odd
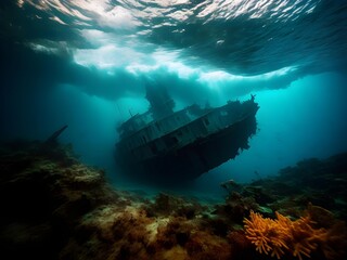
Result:
[[[346,259],[347,154],[299,161],[224,203],[120,191],[69,145],[0,147],[1,259]]]

